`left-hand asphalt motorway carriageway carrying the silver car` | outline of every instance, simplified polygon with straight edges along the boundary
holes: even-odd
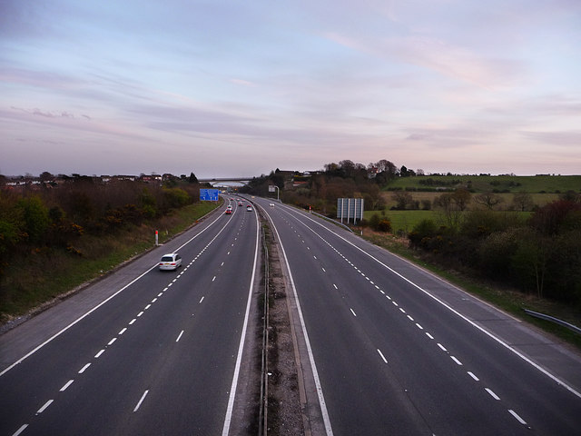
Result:
[[[224,209],[0,337],[0,435],[228,434],[259,226]]]

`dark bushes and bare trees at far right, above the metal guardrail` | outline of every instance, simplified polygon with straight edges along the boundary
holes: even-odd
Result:
[[[455,209],[458,211],[458,209]],[[581,201],[563,195],[528,218],[491,208],[444,213],[409,233],[414,249],[438,263],[475,272],[560,302],[581,304]]]

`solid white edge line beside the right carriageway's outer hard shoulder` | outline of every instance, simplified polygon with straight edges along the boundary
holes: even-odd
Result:
[[[291,208],[290,208],[291,209]],[[291,209],[293,210],[293,209]],[[293,210],[293,212],[296,212]],[[447,302],[443,302],[442,300],[440,300],[436,295],[433,295],[432,293],[426,291],[425,289],[423,289],[421,286],[419,286],[419,284],[416,284],[414,282],[412,282],[411,280],[409,280],[407,277],[403,276],[402,274],[400,274],[399,272],[395,271],[393,268],[390,268],[388,265],[386,265],[385,263],[382,263],[381,261],[379,261],[378,258],[376,258],[375,256],[367,253],[365,250],[363,250],[362,248],[358,247],[357,245],[355,245],[354,243],[351,243],[350,241],[348,241],[347,239],[343,238],[339,233],[335,233],[333,232],[330,228],[324,226],[321,223],[318,223],[317,221],[313,220],[312,218],[310,218],[309,216],[306,215],[300,215],[303,216],[304,218],[310,220],[312,223],[315,223],[317,225],[319,225],[320,227],[322,227],[323,229],[327,230],[330,233],[333,233],[335,236],[337,236],[338,238],[340,238],[341,240],[345,241],[346,243],[349,243],[351,246],[355,247],[357,250],[359,250],[359,252],[366,254],[367,256],[369,256],[371,259],[373,259],[375,262],[379,263],[380,265],[382,265],[384,268],[386,268],[387,270],[389,270],[389,272],[393,272],[395,275],[397,275],[400,279],[409,282],[409,284],[411,284],[412,286],[414,286],[415,288],[417,288],[419,291],[424,292],[426,295],[428,295],[428,297],[430,297],[431,299],[433,299],[434,301],[440,303],[442,306],[444,306],[446,309],[448,309],[448,311],[458,315],[461,319],[463,319],[464,321],[468,322],[469,324],[471,324],[473,327],[477,328],[480,332],[483,332],[484,334],[486,334],[489,338],[491,338],[492,340],[498,342],[500,345],[502,345],[503,347],[505,347],[508,351],[513,352],[514,354],[516,354],[519,358],[521,358],[523,361],[527,362],[529,365],[531,365],[533,368],[537,369],[537,371],[542,372],[543,374],[545,374],[549,379],[556,381],[557,384],[560,384],[561,386],[563,386],[567,391],[570,391],[571,393],[575,394],[578,398],[581,398],[581,392],[576,391],[575,388],[573,388],[572,386],[569,386],[565,381],[562,381],[561,379],[559,379],[558,377],[556,377],[556,375],[553,375],[551,372],[548,372],[545,368],[543,368],[542,366],[540,366],[539,364],[537,364],[536,362],[533,362],[531,359],[529,359],[525,354],[523,354],[522,352],[519,352],[517,349],[513,348],[511,345],[509,345],[507,342],[504,342],[503,340],[501,340],[500,338],[498,338],[497,336],[495,336],[493,333],[488,332],[484,327],[479,326],[476,322],[473,322],[472,320],[468,319],[468,317],[466,317],[465,315],[463,315],[462,313],[458,312],[456,309],[454,309],[452,306],[450,306]],[[305,224],[302,223],[301,221],[299,221],[302,225],[304,225],[305,227],[307,227],[308,229],[310,229],[310,227]],[[315,233],[312,229],[310,229],[311,232]],[[317,233],[315,233],[317,234]],[[405,260],[404,260],[405,261]],[[414,263],[410,263],[408,262],[410,265],[416,266]],[[419,268],[419,267],[418,267]],[[423,271],[423,270],[422,270]],[[439,279],[436,275],[431,274],[434,278]],[[443,282],[443,281],[442,281]],[[459,288],[457,288],[459,289]],[[461,291],[461,290],[460,290]],[[493,307],[494,306],[490,306]],[[496,308],[495,308],[496,309]]]

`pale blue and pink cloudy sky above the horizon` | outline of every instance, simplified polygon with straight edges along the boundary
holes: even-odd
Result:
[[[579,0],[0,0],[0,173],[581,173]]]

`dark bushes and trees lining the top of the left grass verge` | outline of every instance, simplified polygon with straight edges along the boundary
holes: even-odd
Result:
[[[84,234],[139,226],[198,201],[199,192],[195,176],[163,184],[97,183],[79,176],[56,187],[0,189],[0,272],[39,248],[78,255],[74,243]]]

